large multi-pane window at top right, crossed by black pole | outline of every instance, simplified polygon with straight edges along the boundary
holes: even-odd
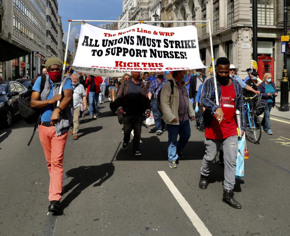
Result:
[[[274,25],[274,0],[258,0],[258,25]],[[252,20],[253,2],[250,0],[250,19]]]

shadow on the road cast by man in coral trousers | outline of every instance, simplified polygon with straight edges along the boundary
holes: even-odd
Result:
[[[102,165],[80,166],[67,171],[67,177],[72,178],[72,180],[64,187],[63,195],[70,190],[72,191],[61,201],[61,209],[58,215],[63,215],[63,210],[87,187],[94,183],[93,187],[101,186],[114,174],[114,170],[113,163],[105,163]]]

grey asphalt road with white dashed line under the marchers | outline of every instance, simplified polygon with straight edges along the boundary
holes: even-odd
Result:
[[[198,187],[204,133],[192,135],[178,168],[169,168],[167,131],[142,127],[142,156],[123,134],[109,102],[96,120],[81,118],[79,140],[68,137],[62,212],[47,214],[49,175],[33,126],[18,119],[0,129],[0,235],[290,235],[290,122],[271,120],[273,135],[247,142],[245,176],[235,198],[221,201],[223,167],[213,164],[207,190]],[[164,171],[164,172],[163,172]],[[166,177],[167,176],[167,177]]]

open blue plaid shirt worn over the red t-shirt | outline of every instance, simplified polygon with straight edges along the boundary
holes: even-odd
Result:
[[[243,104],[243,90],[237,81],[232,80],[234,83],[234,89],[236,93],[235,98],[235,108],[240,111],[240,120],[241,120],[241,129],[246,131],[245,126],[245,117],[244,117],[244,104]],[[218,87],[218,100],[221,100],[221,85],[217,82]],[[203,113],[201,122],[205,122],[206,125],[210,124],[213,113],[216,109],[220,108],[215,103],[215,92],[214,92],[214,78],[210,78],[204,82],[203,90],[201,93],[201,105],[206,108],[205,112]]]

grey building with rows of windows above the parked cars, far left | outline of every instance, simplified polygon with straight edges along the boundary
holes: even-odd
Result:
[[[0,0],[0,80],[34,78],[47,58],[61,57],[61,17],[51,1]]]

